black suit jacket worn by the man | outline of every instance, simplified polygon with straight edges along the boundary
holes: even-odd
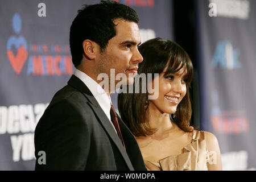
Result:
[[[36,170],[146,170],[137,141],[118,117],[125,142],[76,76],[59,90],[35,129]],[[39,151],[46,152],[46,164]]]

